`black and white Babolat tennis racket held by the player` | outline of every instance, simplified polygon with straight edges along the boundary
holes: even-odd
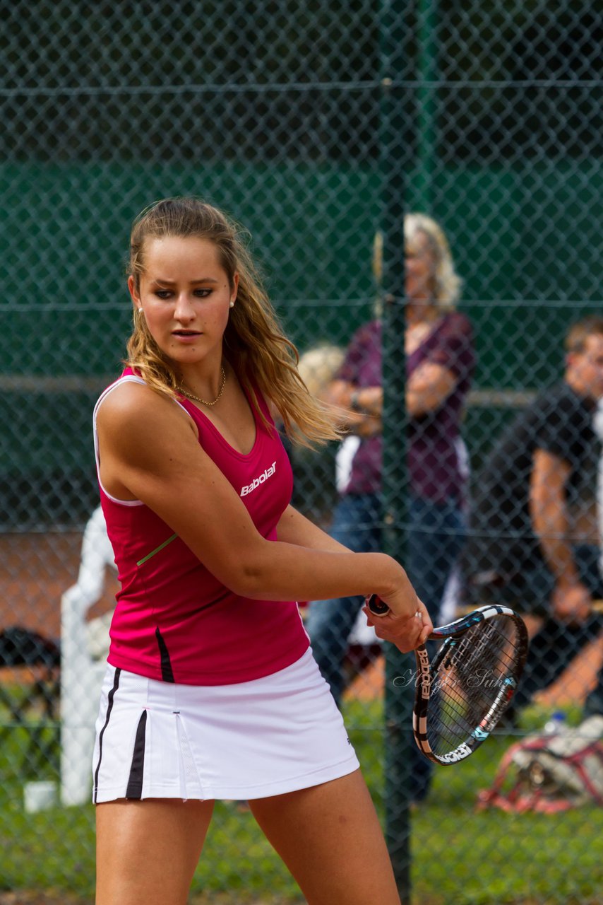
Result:
[[[375,615],[389,609],[377,595],[368,605]],[[429,640],[442,644],[431,662],[424,644],[415,651],[412,730],[425,757],[456,764],[488,738],[511,703],[528,653],[528,633],[513,610],[488,605],[435,628]]]

